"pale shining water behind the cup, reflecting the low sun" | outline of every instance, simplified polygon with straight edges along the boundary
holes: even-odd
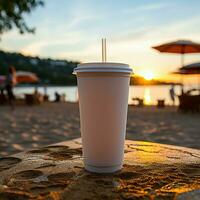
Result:
[[[156,105],[157,100],[165,100],[166,105],[171,105],[172,101],[170,99],[169,90],[170,85],[151,85],[151,86],[130,86],[129,87],[129,104],[135,103],[133,98],[142,98],[146,105]],[[192,88],[192,86],[187,89]],[[59,94],[65,94],[66,101],[77,102],[78,101],[78,88],[77,86],[48,86],[46,88],[39,86],[37,87],[40,93],[47,93],[49,95],[50,101],[55,99],[55,92]],[[18,97],[24,96],[24,94],[31,94],[35,90],[33,86],[23,86],[16,87],[14,89],[15,95]],[[175,86],[175,93],[180,94],[180,86]],[[178,105],[178,99],[175,102]]]

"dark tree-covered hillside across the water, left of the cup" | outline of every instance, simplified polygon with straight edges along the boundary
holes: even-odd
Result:
[[[41,82],[52,85],[75,85],[76,77],[72,71],[77,64],[67,60],[42,59],[0,51],[0,75],[7,74],[8,67],[12,65],[16,70],[34,72]]]

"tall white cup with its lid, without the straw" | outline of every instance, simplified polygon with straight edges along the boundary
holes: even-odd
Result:
[[[123,164],[132,69],[121,63],[85,63],[78,65],[74,73],[85,169],[116,172]]]

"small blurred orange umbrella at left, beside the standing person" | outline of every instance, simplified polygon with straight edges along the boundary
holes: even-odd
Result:
[[[17,83],[36,83],[39,81],[37,75],[32,72],[17,71],[16,77]]]

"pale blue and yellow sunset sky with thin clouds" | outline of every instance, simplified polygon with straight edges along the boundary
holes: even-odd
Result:
[[[101,60],[107,38],[108,61],[124,62],[161,78],[180,66],[180,56],[151,46],[177,39],[200,42],[199,0],[46,0],[26,16],[36,34],[5,33],[1,48],[26,55],[91,62]],[[186,55],[185,63],[200,61]]]

